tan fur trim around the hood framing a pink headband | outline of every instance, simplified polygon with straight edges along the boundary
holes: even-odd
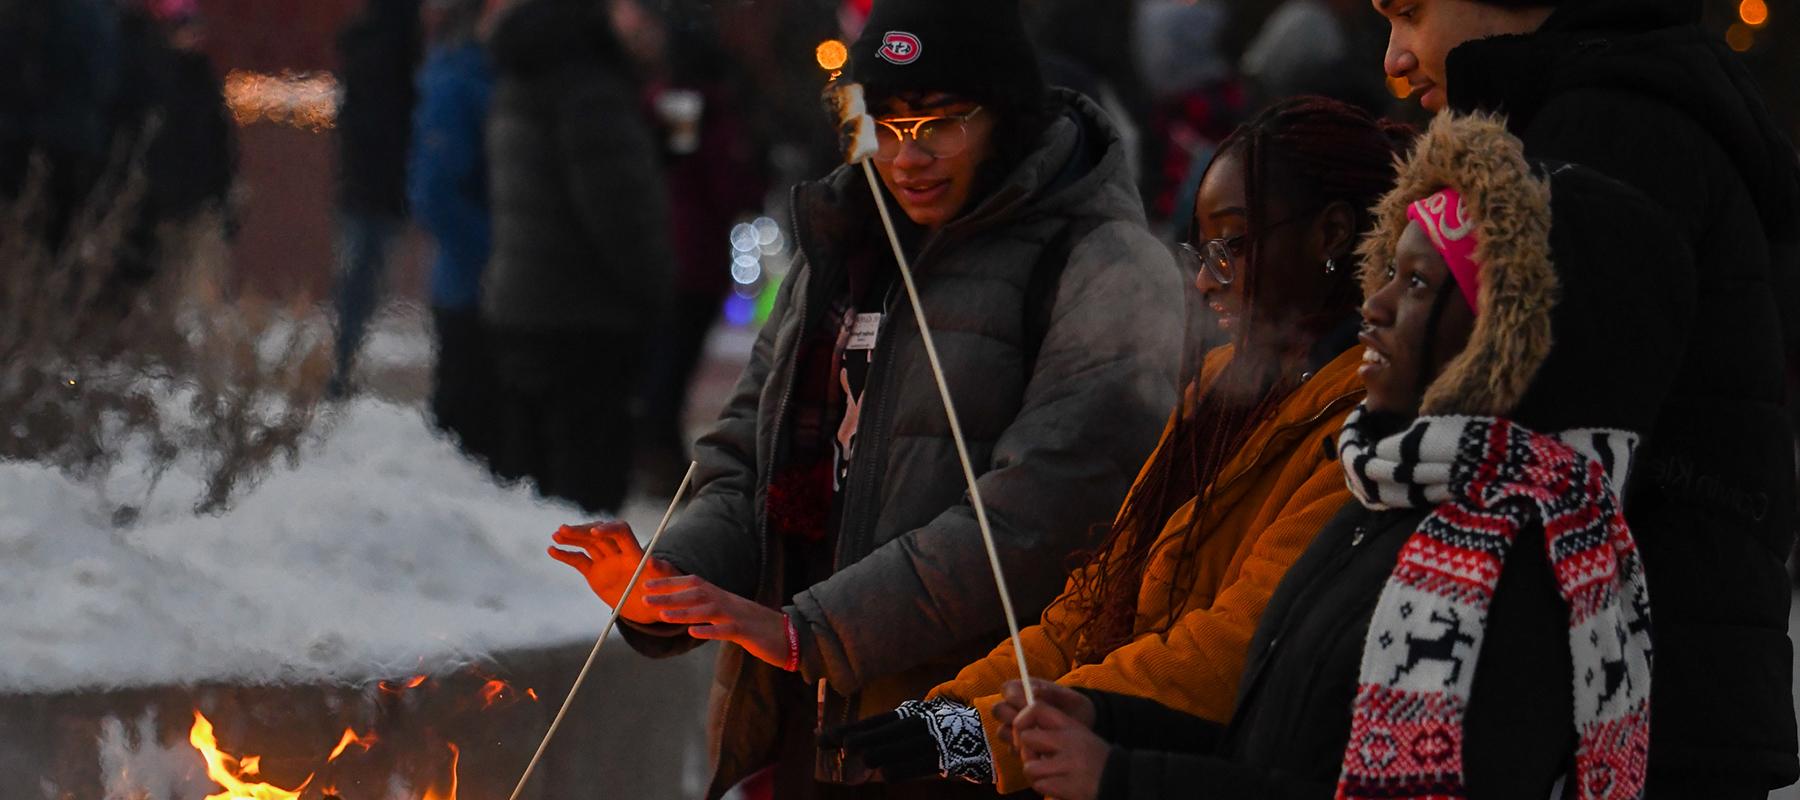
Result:
[[[1363,292],[1381,288],[1393,263],[1406,205],[1454,187],[1476,218],[1480,314],[1469,346],[1426,389],[1424,414],[1505,416],[1525,398],[1552,348],[1557,272],[1550,263],[1550,180],[1496,115],[1438,114],[1399,166],[1393,191],[1375,204],[1375,229],[1357,256]]]

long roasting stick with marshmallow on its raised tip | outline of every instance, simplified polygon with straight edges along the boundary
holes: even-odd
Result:
[[[979,0],[976,0],[979,2]],[[943,416],[950,420],[950,440],[956,441],[956,458],[963,463],[963,481],[968,483],[968,505],[976,510],[976,526],[981,528],[981,544],[988,550],[988,566],[994,569],[994,587],[1001,593],[1001,611],[1006,614],[1006,632],[1012,634],[1013,658],[1019,661],[1019,681],[1024,683],[1024,705],[1037,697],[1031,692],[1031,674],[1024,661],[1024,645],[1019,643],[1019,622],[1012,609],[1012,593],[1006,591],[1006,573],[1001,569],[1001,553],[994,546],[994,528],[988,526],[988,506],[981,503],[981,486],[976,485],[976,467],[968,459],[968,443],[963,440],[963,425],[956,416],[956,404],[950,400],[950,384],[943,377],[943,362],[938,360],[938,344],[931,337],[931,324],[925,323],[925,306],[918,299],[918,285],[913,283],[913,267],[907,265],[905,250],[900,249],[900,236],[895,232],[893,216],[887,211],[887,196],[875,177],[871,159],[878,148],[875,142],[875,117],[869,115],[862,95],[862,85],[832,81],[824,90],[826,105],[837,119],[837,132],[846,139],[844,160],[862,164],[862,177],[875,195],[875,211],[882,216],[887,231],[887,243],[895,250],[895,263],[900,265],[900,279],[905,283],[907,299],[913,301],[913,319],[918,321],[920,339],[925,342],[925,359],[931,362],[931,377],[938,382],[938,396],[943,398]],[[902,142],[904,144],[904,142]]]

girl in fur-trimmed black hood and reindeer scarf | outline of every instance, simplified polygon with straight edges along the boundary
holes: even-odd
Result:
[[[1337,440],[1357,503],[1271,598],[1229,726],[1040,688],[1035,789],[1642,796],[1651,591],[1618,492],[1690,261],[1634,189],[1526,162],[1496,117],[1440,115],[1377,216]]]

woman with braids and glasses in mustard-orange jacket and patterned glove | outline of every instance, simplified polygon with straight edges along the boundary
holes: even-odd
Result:
[[[1350,499],[1325,440],[1363,398],[1350,254],[1393,184],[1395,137],[1300,97],[1220,144],[1183,252],[1231,344],[1190,373],[1111,532],[1021,631],[1033,676],[1229,719],[1269,593]],[[925,701],[828,739],[887,780],[1019,791],[1019,753],[992,714],[1013,677],[1003,641]]]

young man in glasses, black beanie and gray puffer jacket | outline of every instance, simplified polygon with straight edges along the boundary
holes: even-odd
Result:
[[[1112,517],[1175,404],[1181,276],[1112,123],[1048,90],[1015,0],[878,0],[851,47],[1022,623]],[[864,784],[815,742],[1004,638],[938,387],[864,171],[794,193],[799,254],[688,508],[625,609],[652,656],[720,652],[707,796],[988,795]],[[616,600],[637,548],[563,528]],[[862,786],[859,786],[862,784]]]

